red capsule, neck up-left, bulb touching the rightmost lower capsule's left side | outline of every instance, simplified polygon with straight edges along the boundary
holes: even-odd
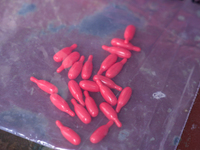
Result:
[[[103,96],[105,101],[107,101],[112,106],[116,105],[117,98],[115,94],[107,86],[103,85],[103,83],[99,79],[96,80],[96,83],[98,84],[101,95]]]

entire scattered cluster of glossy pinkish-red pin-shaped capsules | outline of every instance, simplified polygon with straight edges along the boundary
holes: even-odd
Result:
[[[100,142],[108,133],[109,128],[115,124],[118,127],[122,126],[119,121],[117,113],[120,112],[121,108],[129,101],[132,89],[125,87],[122,89],[120,86],[115,84],[111,79],[114,78],[123,68],[123,65],[127,62],[127,59],[131,57],[130,50],[140,51],[139,47],[133,46],[129,41],[135,34],[135,27],[129,25],[126,27],[124,32],[125,39],[114,38],[111,40],[113,47],[103,45],[102,49],[110,52],[104,61],[101,63],[100,69],[96,75],[93,76],[93,81],[88,80],[92,75],[93,56],[90,55],[88,60],[84,63],[84,56],[80,56],[78,52],[72,52],[77,45],[73,44],[70,47],[66,47],[58,51],[53,59],[56,62],[62,62],[61,66],[57,69],[60,73],[66,68],[70,68],[68,72],[68,88],[72,96],[71,103],[74,106],[74,111],[78,118],[85,124],[91,122],[91,117],[96,117],[99,113],[99,109],[89,92],[100,92],[106,102],[102,102],[99,105],[100,110],[109,119],[109,122],[96,129],[90,136],[92,143]],[[118,57],[122,58],[121,61],[116,62]],[[106,71],[106,72],[105,72]],[[102,73],[105,72],[105,76]],[[79,84],[74,80],[79,74],[81,74],[82,81]],[[39,88],[50,94],[51,102],[61,111],[68,113],[70,116],[75,116],[75,113],[70,109],[68,103],[59,96],[58,88],[45,80],[38,80],[35,77],[31,77],[30,80],[35,82]],[[84,92],[82,92],[82,90]],[[118,99],[111,89],[121,91]],[[83,93],[85,101],[83,100]],[[112,106],[117,105],[114,110]],[[86,107],[86,108],[85,108]],[[79,145],[81,142],[80,136],[73,131],[71,128],[64,126],[59,120],[56,121],[56,125],[60,128],[62,135],[72,144]]]

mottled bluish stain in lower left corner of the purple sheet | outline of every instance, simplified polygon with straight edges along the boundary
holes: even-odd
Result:
[[[46,133],[47,120],[41,114],[36,114],[19,107],[13,107],[10,110],[0,113],[0,123],[13,128],[20,129],[33,137],[43,137]]]

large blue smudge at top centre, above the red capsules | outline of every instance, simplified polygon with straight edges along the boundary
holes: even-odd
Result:
[[[129,11],[125,6],[109,5],[101,12],[85,17],[78,26],[80,32],[104,37],[127,25],[143,26],[144,19]]]

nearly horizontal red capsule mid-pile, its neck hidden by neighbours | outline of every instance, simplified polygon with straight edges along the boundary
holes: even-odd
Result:
[[[86,91],[99,92],[99,86],[94,81],[82,80],[79,82],[79,86]]]

